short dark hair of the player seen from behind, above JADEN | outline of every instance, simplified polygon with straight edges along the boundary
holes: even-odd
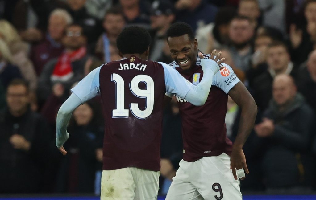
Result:
[[[122,54],[143,54],[149,47],[151,37],[146,29],[139,26],[128,26],[116,39],[119,52]]]

